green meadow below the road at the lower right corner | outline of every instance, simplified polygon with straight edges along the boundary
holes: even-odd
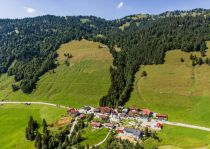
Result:
[[[210,133],[190,128],[164,125],[158,132],[159,140],[149,139],[144,142],[145,148],[159,146],[160,149],[209,148]]]

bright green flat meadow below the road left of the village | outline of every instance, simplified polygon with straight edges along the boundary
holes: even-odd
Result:
[[[64,115],[65,109],[42,105],[1,105],[0,106],[0,148],[32,149],[34,143],[25,139],[25,128],[32,115],[38,123],[45,118],[48,123]]]

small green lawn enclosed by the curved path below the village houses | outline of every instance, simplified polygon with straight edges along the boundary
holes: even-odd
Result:
[[[81,144],[84,146],[86,146],[87,144],[89,144],[90,146],[95,145],[101,142],[107,134],[107,128],[93,129],[92,127],[87,127],[84,129],[84,133],[82,136],[84,140],[81,142]]]

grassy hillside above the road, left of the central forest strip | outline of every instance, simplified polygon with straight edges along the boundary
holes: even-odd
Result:
[[[0,77],[0,98],[9,100],[33,100],[64,104],[74,107],[97,106],[110,86],[109,67],[112,56],[100,43],[86,40],[63,44],[57,51],[59,66],[43,75],[37,88],[30,95],[21,91],[13,93],[13,78]],[[70,65],[65,64],[64,53],[71,53]]]

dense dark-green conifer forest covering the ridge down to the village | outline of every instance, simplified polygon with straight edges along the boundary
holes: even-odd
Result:
[[[165,52],[177,48],[205,53],[205,41],[210,39],[209,10],[132,17],[135,15],[112,21],[50,15],[1,19],[0,73],[15,76],[17,83],[11,85],[14,90],[30,93],[39,77],[56,67],[56,49],[62,43],[82,38],[100,41],[108,45],[114,57],[110,67],[112,84],[100,105],[117,106],[129,100],[134,74],[141,64],[163,63]],[[126,22],[129,27],[120,30]],[[117,52],[115,46],[122,50]]]

